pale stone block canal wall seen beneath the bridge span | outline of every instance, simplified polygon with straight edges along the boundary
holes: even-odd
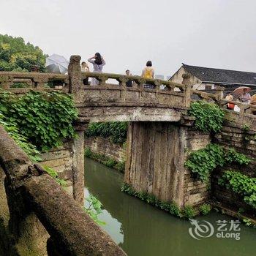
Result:
[[[85,138],[85,147],[91,148],[91,151],[104,154],[118,162],[122,162],[126,159],[126,146],[123,144],[113,143],[109,138]]]

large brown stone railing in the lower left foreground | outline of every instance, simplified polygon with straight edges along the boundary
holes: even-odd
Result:
[[[0,127],[0,254],[126,255]]]

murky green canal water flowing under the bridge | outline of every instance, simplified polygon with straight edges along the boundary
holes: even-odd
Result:
[[[217,238],[218,220],[232,219],[213,212],[198,217],[200,223],[210,222],[214,234],[196,240],[189,236],[189,221],[178,219],[135,197],[120,191],[123,175],[104,165],[86,159],[86,196],[96,196],[103,204],[99,219],[106,222],[102,228],[129,256],[254,256],[256,229],[239,225],[240,240]],[[205,222],[206,223],[206,222]],[[230,228],[230,223],[226,227]],[[192,229],[192,233],[195,232]],[[223,232],[224,234],[229,233]],[[225,235],[227,236],[227,235]],[[197,236],[195,236],[198,238]],[[113,255],[114,256],[114,255]]]

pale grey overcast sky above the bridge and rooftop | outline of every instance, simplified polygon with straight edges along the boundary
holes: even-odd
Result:
[[[255,0],[0,0],[0,34],[49,55],[102,53],[105,72],[139,75],[147,60],[256,72]]]

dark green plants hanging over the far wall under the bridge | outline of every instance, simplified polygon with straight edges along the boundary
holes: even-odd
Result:
[[[127,122],[91,123],[86,129],[86,137],[96,136],[110,138],[113,143],[124,143],[127,140]]]

